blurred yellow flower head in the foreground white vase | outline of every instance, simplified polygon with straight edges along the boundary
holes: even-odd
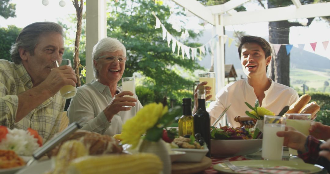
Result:
[[[135,148],[139,143],[141,135],[152,128],[167,111],[167,106],[163,107],[162,103],[150,103],[144,106],[123,125],[121,133],[122,143],[132,144],[132,148]]]

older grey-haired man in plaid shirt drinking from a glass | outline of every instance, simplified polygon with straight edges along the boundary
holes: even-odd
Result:
[[[51,70],[62,60],[63,29],[53,22],[35,22],[19,33],[11,48],[13,62],[0,60],[0,122],[9,128],[37,130],[44,141],[58,131],[65,100],[64,85],[76,86],[69,66]]]

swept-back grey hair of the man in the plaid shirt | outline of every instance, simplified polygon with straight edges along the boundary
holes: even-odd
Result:
[[[34,49],[40,36],[47,33],[59,33],[62,37],[64,36],[62,26],[55,22],[35,22],[24,27],[10,49],[13,62],[16,64],[22,62],[19,56],[19,48],[28,50],[31,55],[34,55]]]

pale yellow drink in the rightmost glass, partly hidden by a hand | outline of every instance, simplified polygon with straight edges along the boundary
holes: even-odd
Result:
[[[299,132],[303,133],[304,135],[309,135],[309,128],[311,126],[311,120],[295,120],[295,119],[287,119],[286,125],[291,126],[294,129],[298,130]],[[298,156],[297,150],[289,148],[289,154]]]

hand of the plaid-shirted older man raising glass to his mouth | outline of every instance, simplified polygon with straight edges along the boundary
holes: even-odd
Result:
[[[63,86],[76,86],[77,82],[77,76],[73,69],[67,65],[63,65],[51,70],[41,85],[55,95]]]

